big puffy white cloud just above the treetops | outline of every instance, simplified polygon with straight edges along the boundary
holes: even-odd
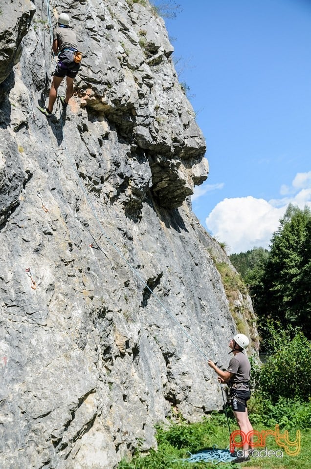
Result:
[[[285,195],[282,188],[281,195]],[[311,208],[311,171],[298,173],[286,193],[291,193],[293,188],[296,193],[291,196],[269,201],[250,195],[226,198],[208,215],[206,226],[219,241],[226,243],[228,252],[244,252],[254,246],[268,248],[290,202],[301,209],[305,205]]]

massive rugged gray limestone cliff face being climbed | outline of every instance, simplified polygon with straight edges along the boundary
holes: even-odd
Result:
[[[112,469],[172,414],[222,408],[206,359],[225,367],[237,331],[229,261],[191,210],[205,142],[163,20],[147,1],[35,4],[2,9],[0,467]],[[62,11],[83,61],[47,120]]]

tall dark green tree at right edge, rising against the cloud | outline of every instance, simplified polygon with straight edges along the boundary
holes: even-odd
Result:
[[[271,239],[257,313],[311,335],[311,212],[289,204]]]

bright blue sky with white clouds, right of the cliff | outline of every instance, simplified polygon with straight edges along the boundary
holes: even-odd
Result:
[[[177,3],[165,22],[210,166],[193,210],[228,253],[268,247],[289,202],[311,207],[311,1]]]

